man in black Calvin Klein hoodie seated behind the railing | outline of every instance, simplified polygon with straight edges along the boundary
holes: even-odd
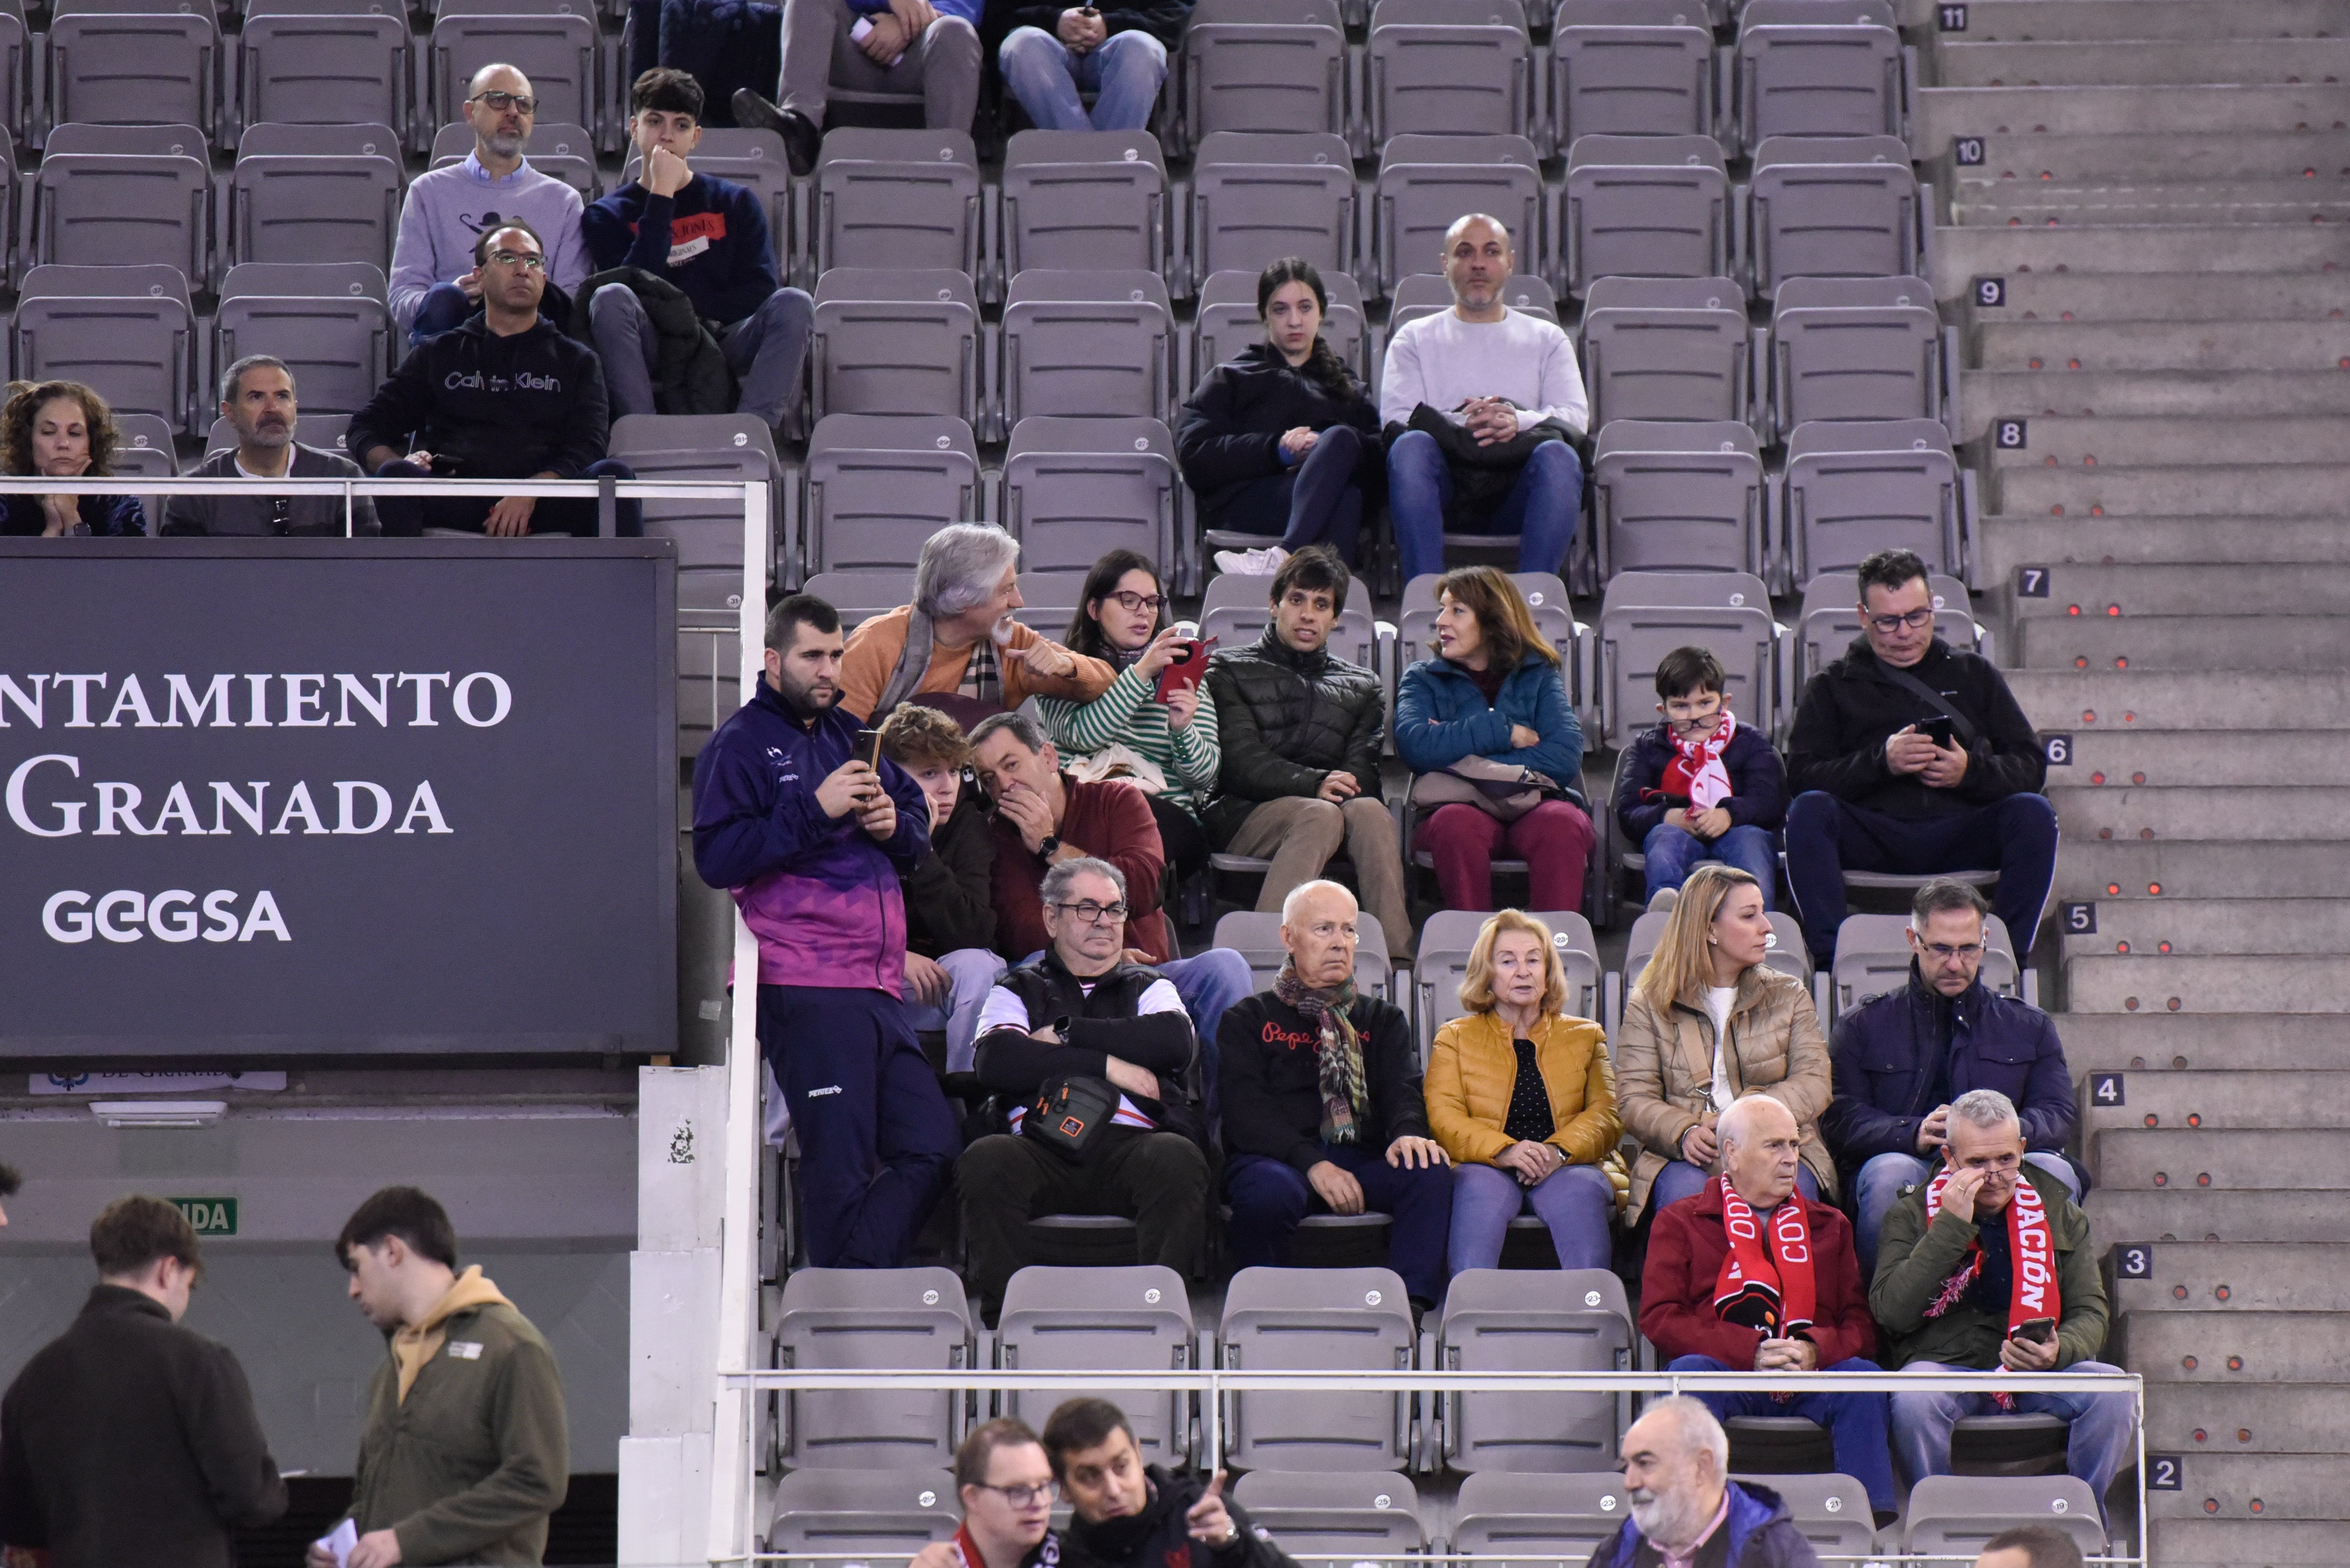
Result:
[[[595,350],[538,315],[545,246],[526,223],[475,242],[482,312],[428,338],[350,420],[350,451],[378,479],[634,479],[604,455],[611,413]],[[411,446],[414,444],[414,446]],[[446,495],[376,500],[385,538],[597,533],[595,500]],[[618,530],[644,533],[642,505],[618,502]]]

